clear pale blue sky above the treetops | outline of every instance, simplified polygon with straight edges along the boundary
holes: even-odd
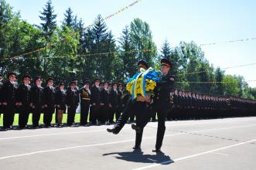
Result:
[[[39,11],[47,0],[6,0],[22,19],[39,24]],[[58,23],[63,12],[70,7],[90,25],[98,14],[110,15],[134,0],[53,0]],[[256,37],[256,1],[254,0],[142,0],[127,11],[107,21],[116,39],[132,19],[148,22],[153,39],[161,48],[168,39],[172,46],[180,41],[197,44],[220,42],[215,46],[203,46],[206,58],[213,66],[222,68],[256,63],[256,40],[249,42],[222,43],[230,39]],[[240,74],[245,80],[256,80],[256,65],[226,70],[228,74]],[[248,82],[256,87],[256,82]]]

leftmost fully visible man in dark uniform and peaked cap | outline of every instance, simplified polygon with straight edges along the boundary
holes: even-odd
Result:
[[[15,108],[19,105],[16,73],[9,73],[7,77],[9,80],[2,87],[2,105],[4,109],[3,128],[5,129],[12,128]]]

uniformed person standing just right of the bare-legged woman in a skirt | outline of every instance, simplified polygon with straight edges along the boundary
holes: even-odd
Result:
[[[79,104],[79,95],[76,90],[76,83],[70,82],[70,88],[67,90],[66,95],[67,103],[67,125],[72,126],[74,124],[74,119],[76,115],[76,110]]]

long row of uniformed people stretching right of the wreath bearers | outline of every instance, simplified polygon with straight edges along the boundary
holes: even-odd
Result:
[[[169,120],[256,116],[256,100],[174,89]]]

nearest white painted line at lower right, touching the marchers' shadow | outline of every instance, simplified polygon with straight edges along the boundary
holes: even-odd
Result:
[[[206,155],[206,154],[212,153],[214,151],[221,151],[221,150],[224,150],[224,149],[227,149],[227,148],[234,148],[234,147],[237,147],[237,146],[240,146],[240,145],[251,143],[253,141],[256,141],[256,139],[253,139],[251,141],[244,141],[244,142],[241,142],[241,143],[235,144],[235,145],[228,145],[226,147],[217,148],[217,149],[213,149],[213,150],[210,150],[210,151],[203,151],[203,152],[200,152],[200,153],[195,154],[195,155],[189,155],[189,156],[184,156],[182,158],[176,158],[176,159],[173,159],[173,160],[168,161],[168,162],[161,162],[161,163],[157,163],[157,164],[153,164],[153,165],[144,166],[144,167],[141,167],[141,168],[135,168],[134,170],[142,170],[142,169],[146,169],[146,168],[153,168],[153,167],[159,166],[159,165],[169,164],[169,163],[172,163],[172,162],[179,162],[179,161],[183,161],[183,160],[188,159],[188,158],[194,158],[194,157],[197,157],[197,156],[200,156],[200,155]]]

